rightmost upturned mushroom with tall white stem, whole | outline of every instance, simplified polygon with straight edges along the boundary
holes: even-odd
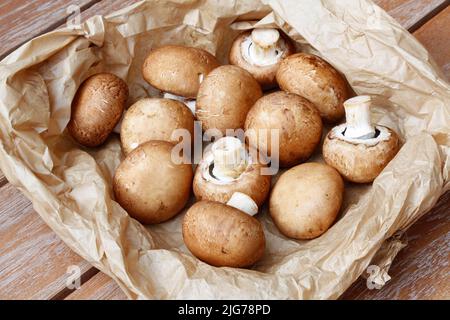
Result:
[[[373,125],[370,96],[358,96],[344,103],[347,122],[334,127],[325,138],[323,156],[345,179],[372,182],[397,154],[397,134]]]

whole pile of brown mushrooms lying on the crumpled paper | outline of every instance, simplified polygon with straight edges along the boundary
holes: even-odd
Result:
[[[182,218],[186,247],[213,266],[243,268],[264,256],[257,215],[267,199],[281,234],[319,237],[339,216],[343,178],[372,182],[400,142],[393,130],[372,123],[370,96],[350,98],[333,66],[295,53],[278,29],[243,32],[229,60],[221,66],[199,48],[152,50],[142,76],[162,94],[128,110],[126,83],[108,73],[93,75],[73,100],[68,132],[81,145],[97,147],[116,128],[125,158],[113,178],[115,200],[141,223],[158,224],[182,212],[192,190],[197,202]],[[337,123],[344,115],[346,122],[325,136],[326,164],[305,163],[320,150],[323,122]],[[176,130],[194,143],[196,119],[215,139],[194,171],[191,163],[176,163],[173,151],[180,142]],[[276,170],[287,168],[273,187],[265,171],[269,160]]]

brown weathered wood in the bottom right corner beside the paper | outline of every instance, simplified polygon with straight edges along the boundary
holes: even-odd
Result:
[[[450,192],[407,231],[408,245],[395,258],[392,279],[381,290],[355,282],[342,299],[449,299]]]

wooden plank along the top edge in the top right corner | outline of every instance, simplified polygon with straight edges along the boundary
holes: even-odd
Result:
[[[448,5],[448,0],[374,0],[410,32]]]

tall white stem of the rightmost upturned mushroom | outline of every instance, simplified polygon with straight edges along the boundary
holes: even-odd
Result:
[[[344,102],[346,129],[344,136],[352,139],[372,139],[376,135],[370,117],[370,96],[358,96]]]

